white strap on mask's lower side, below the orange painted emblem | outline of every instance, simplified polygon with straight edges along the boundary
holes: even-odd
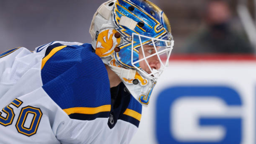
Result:
[[[128,80],[134,79],[136,71],[131,69],[119,68],[109,65],[112,71],[114,71],[119,77],[126,78]]]

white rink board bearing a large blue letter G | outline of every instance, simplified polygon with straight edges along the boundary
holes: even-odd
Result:
[[[256,144],[256,61],[171,61],[131,144]]]

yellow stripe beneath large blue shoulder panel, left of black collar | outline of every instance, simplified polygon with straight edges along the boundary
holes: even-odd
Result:
[[[67,115],[70,115],[72,113],[96,114],[96,113],[100,113],[100,112],[107,112],[110,110],[111,110],[111,105],[104,105],[104,106],[99,106],[96,108],[76,107],[76,108],[63,109],[63,111]]]

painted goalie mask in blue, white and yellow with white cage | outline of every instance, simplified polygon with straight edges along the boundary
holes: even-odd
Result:
[[[164,12],[147,0],[110,0],[95,13],[90,34],[95,53],[148,105],[174,45]]]

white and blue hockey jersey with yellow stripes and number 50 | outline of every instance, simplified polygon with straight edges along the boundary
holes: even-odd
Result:
[[[128,144],[142,106],[90,44],[52,42],[0,54],[0,144]]]

